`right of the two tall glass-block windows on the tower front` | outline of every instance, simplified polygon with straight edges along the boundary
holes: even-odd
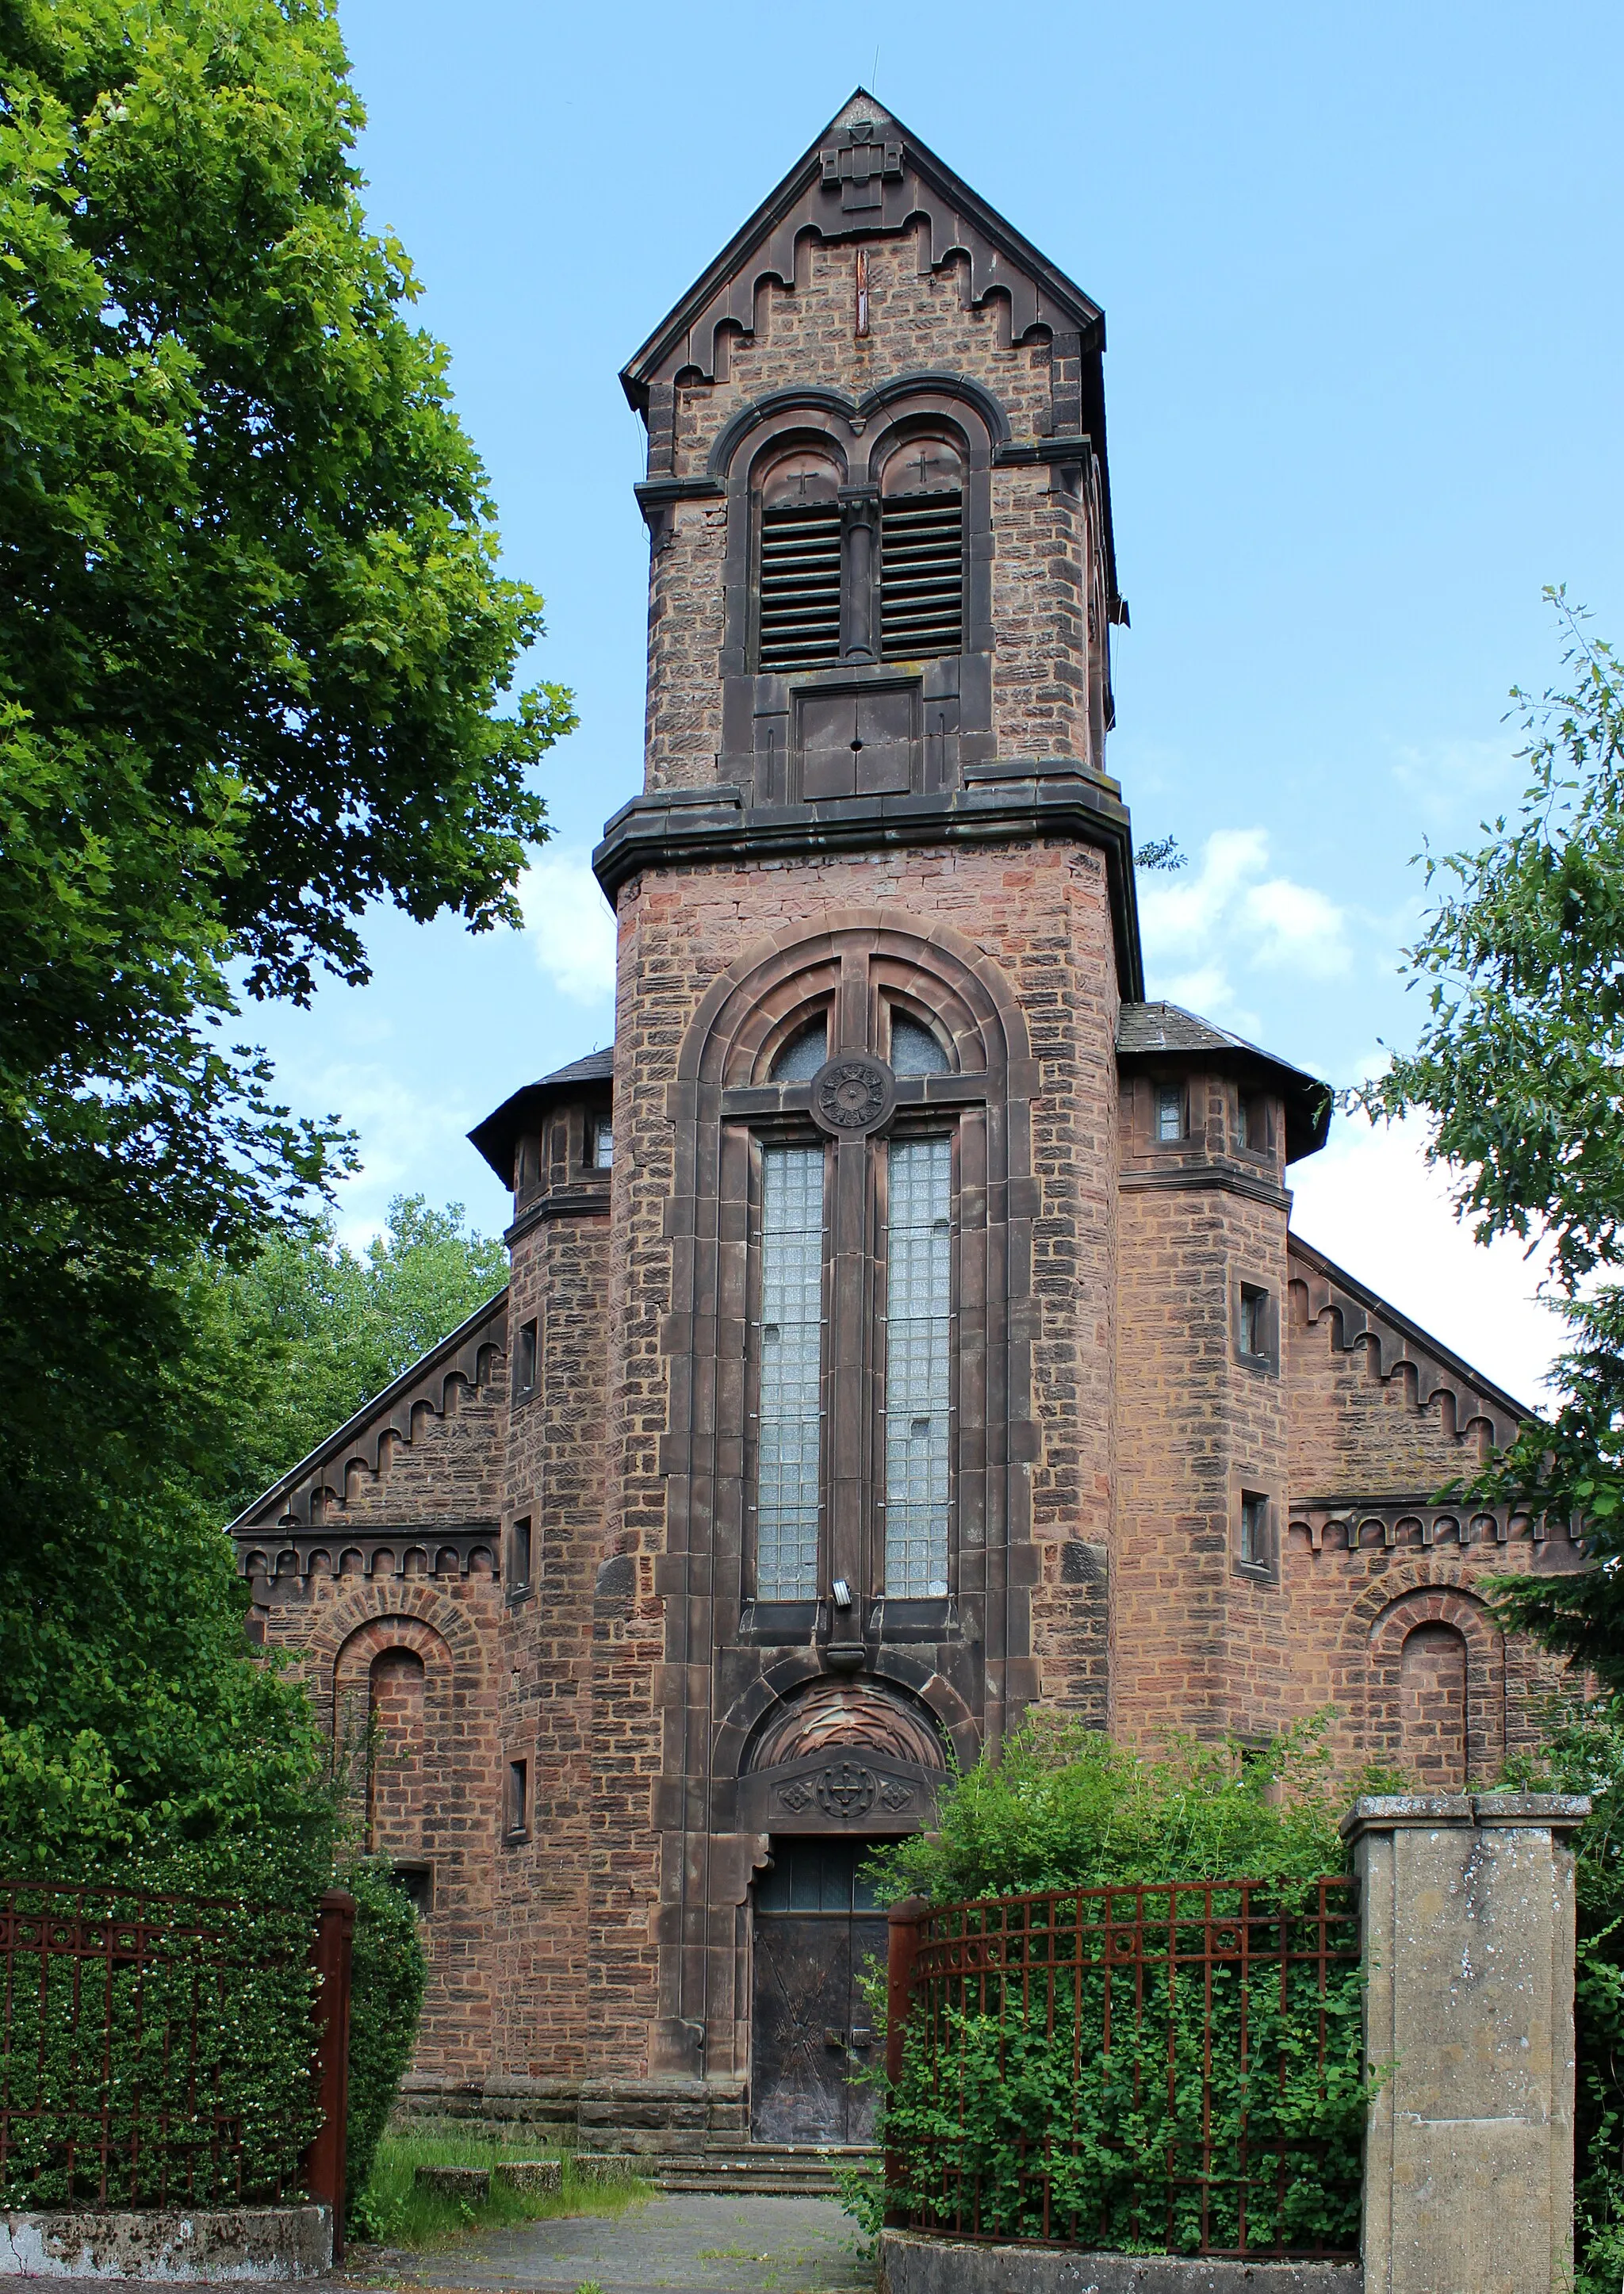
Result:
[[[952,1140],[888,1149],[885,1594],[947,1592]]]

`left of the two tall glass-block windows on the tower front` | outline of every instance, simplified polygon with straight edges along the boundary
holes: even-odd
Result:
[[[823,1149],[762,1154],[762,1337],[755,1496],[759,1601],[817,1597],[823,1386]]]

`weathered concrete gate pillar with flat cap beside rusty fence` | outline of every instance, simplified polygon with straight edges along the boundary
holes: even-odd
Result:
[[[1590,1801],[1358,1801],[1365,2294],[1555,2294],[1574,2273],[1574,1856]]]

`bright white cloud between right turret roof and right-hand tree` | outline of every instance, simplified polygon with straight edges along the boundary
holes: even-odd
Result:
[[[1330,1142],[1291,1165],[1291,1227],[1518,1402],[1546,1402],[1562,1324],[1535,1298],[1544,1257],[1475,1243],[1422,1145],[1418,1122],[1337,1117]]]

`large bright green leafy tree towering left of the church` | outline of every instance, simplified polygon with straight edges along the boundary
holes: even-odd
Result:
[[[360,124],[330,0],[0,11],[7,1860],[181,1886],[330,1840],[307,1709],[243,1654],[200,1255],[259,1262],[346,1149],[232,982],[365,980],[378,899],[514,920],[573,723],[509,704],[541,601]]]

